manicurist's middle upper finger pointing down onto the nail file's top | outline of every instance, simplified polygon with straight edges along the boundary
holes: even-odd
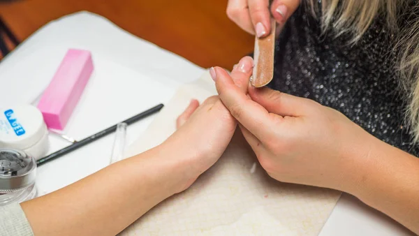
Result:
[[[270,9],[268,0],[249,0],[249,13],[258,38],[270,33]]]

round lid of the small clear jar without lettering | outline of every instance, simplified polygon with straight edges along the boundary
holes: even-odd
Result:
[[[0,149],[0,193],[34,184],[35,158],[14,149]]]

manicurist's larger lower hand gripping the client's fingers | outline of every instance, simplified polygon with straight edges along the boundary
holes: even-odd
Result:
[[[214,71],[221,101],[271,177],[341,191],[359,184],[369,145],[376,143],[372,135],[315,101],[268,88],[249,87],[247,94],[234,75]]]

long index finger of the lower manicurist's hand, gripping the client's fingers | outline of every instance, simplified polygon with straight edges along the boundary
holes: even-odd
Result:
[[[274,133],[271,127],[275,117],[237,87],[223,68],[215,67],[212,71],[219,97],[231,115],[259,140],[272,138]]]

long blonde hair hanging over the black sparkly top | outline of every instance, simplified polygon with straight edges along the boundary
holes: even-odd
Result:
[[[383,17],[390,34],[395,34],[394,51],[397,52],[399,84],[406,91],[408,105],[406,122],[419,140],[419,16],[412,22],[398,22],[411,0],[308,0],[311,11],[320,17],[323,33],[332,31],[335,36],[350,34],[348,43],[356,43],[376,17]],[[321,4],[321,6],[318,6]],[[412,7],[412,6],[411,6]],[[413,9],[419,10],[419,1]],[[406,15],[404,15],[406,16]],[[399,24],[405,24],[404,29]]]

